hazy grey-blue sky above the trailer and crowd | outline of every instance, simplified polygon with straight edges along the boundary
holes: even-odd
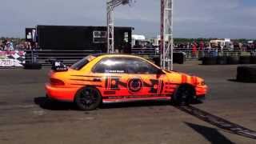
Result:
[[[106,0],[1,0],[0,36],[25,37],[36,25],[105,26]],[[160,0],[115,10],[116,26],[159,34]],[[175,38],[256,38],[255,0],[174,0]]]

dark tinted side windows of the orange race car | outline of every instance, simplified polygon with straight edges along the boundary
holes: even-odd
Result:
[[[140,58],[104,58],[94,73],[157,74],[158,68]]]

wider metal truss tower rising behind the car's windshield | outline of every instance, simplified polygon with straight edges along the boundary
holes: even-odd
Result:
[[[173,0],[161,0],[161,67],[173,70]]]

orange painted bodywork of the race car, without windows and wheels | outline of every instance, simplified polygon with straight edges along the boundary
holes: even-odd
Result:
[[[81,70],[50,71],[50,78],[54,78],[55,84],[46,84],[46,94],[56,100],[74,102],[74,97],[78,90],[85,86],[94,86],[102,95],[103,102],[120,102],[124,100],[170,99],[181,84],[194,86],[197,96],[202,96],[207,92],[206,85],[199,85],[204,83],[202,78],[191,77],[190,75],[173,71],[162,70],[162,74],[99,74],[92,72],[94,66],[102,58],[120,57],[138,58],[149,62],[146,59],[131,55],[106,54],[91,58],[90,62],[82,67]],[[151,62],[149,63],[155,66]],[[155,67],[160,69],[158,66]],[[58,85],[58,83],[62,84],[62,82],[64,82],[64,85]]]

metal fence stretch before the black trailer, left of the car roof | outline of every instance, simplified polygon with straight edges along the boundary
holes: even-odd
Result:
[[[85,58],[90,54],[102,54],[101,50],[26,50],[25,62],[38,62],[42,66],[50,66],[49,60],[59,60],[66,65]]]

